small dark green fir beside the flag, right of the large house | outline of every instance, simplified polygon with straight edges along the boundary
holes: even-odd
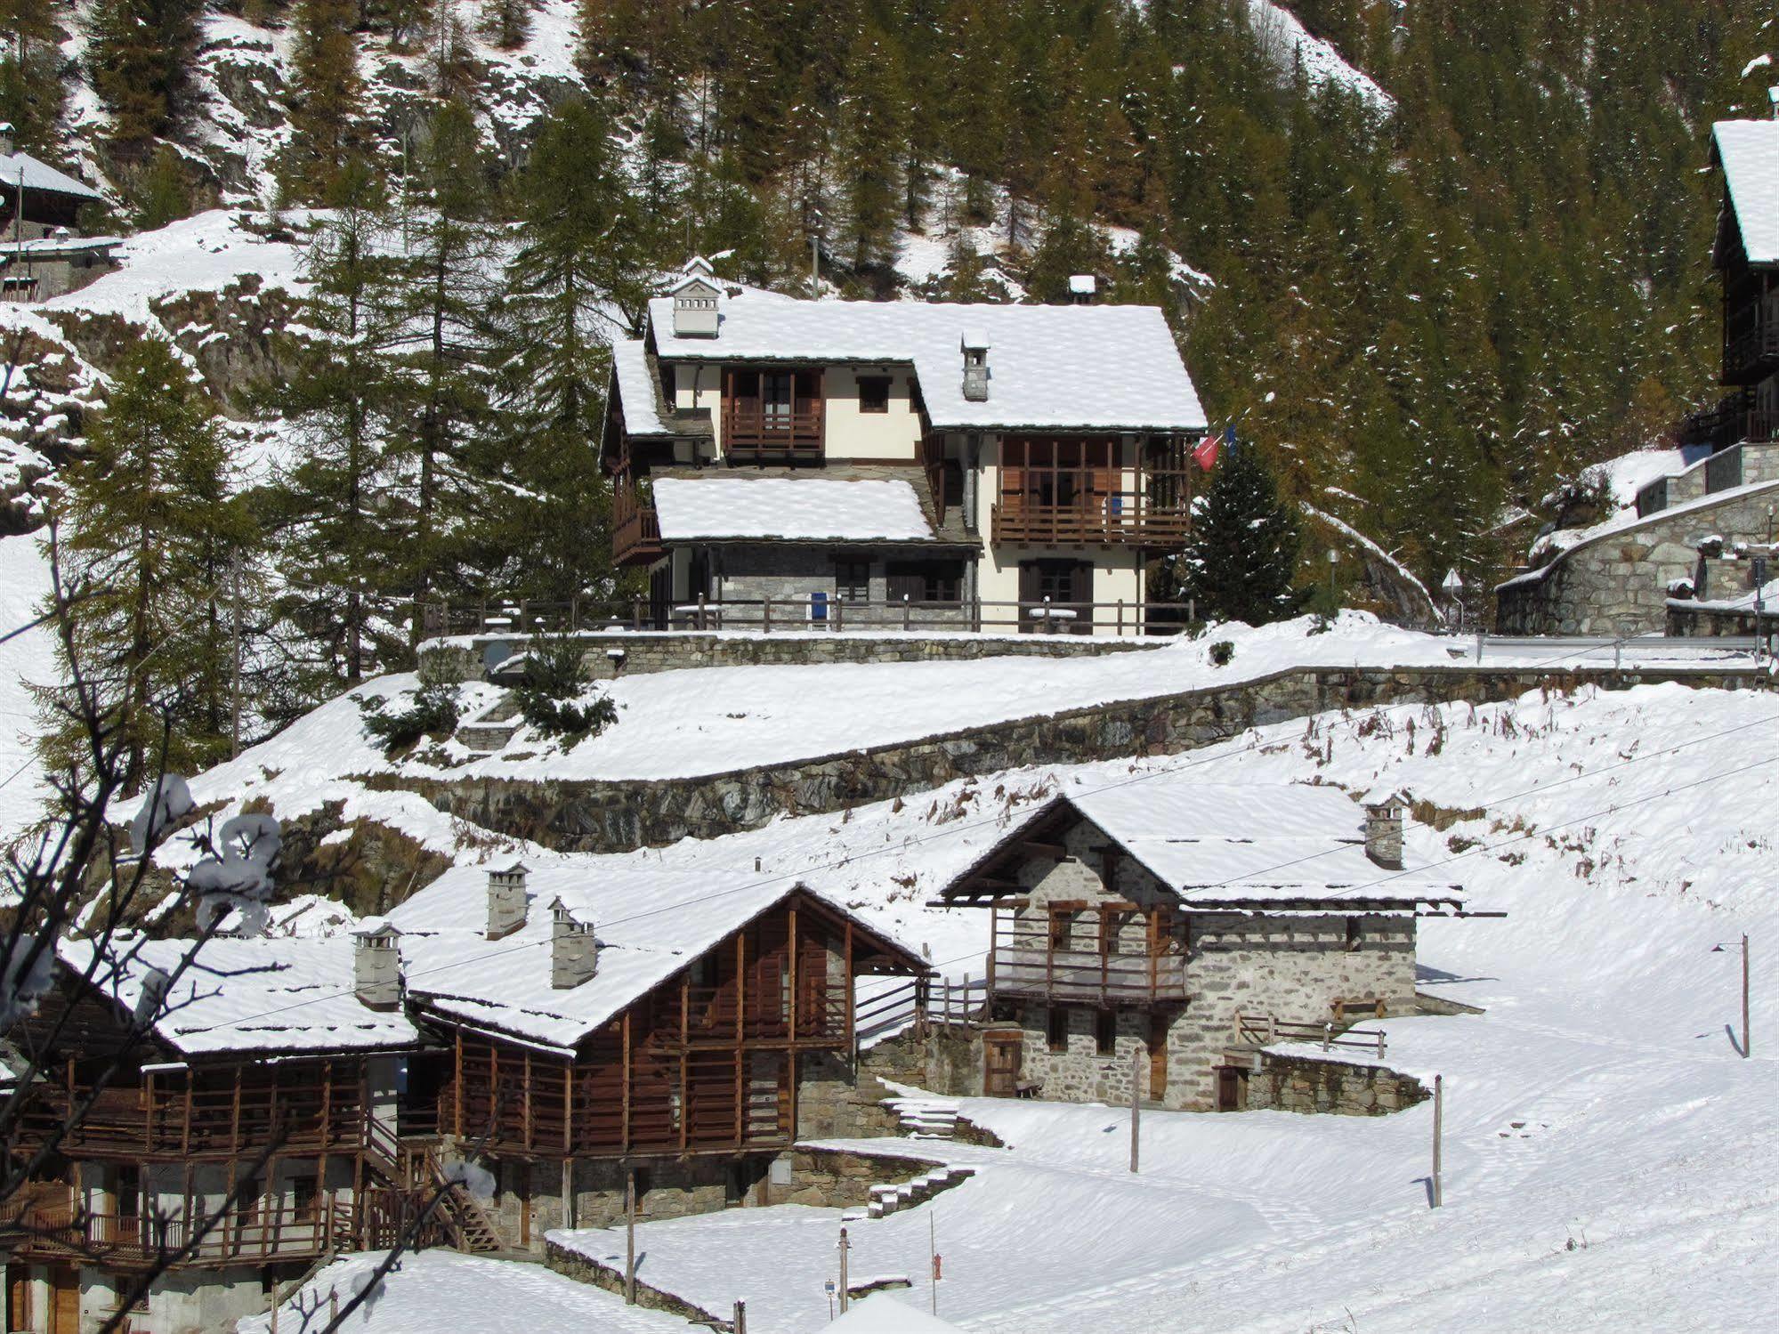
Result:
[[[1297,518],[1279,500],[1272,471],[1252,445],[1228,450],[1192,516],[1192,539],[1176,560],[1176,598],[1199,615],[1267,624],[1297,612]]]

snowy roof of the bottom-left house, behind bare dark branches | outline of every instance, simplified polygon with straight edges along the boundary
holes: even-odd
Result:
[[[119,939],[94,971],[94,985],[133,1012],[157,971],[173,975],[192,941]],[[372,1010],[352,992],[350,936],[322,939],[215,937],[167,992],[155,1033],[187,1057],[224,1051],[322,1053],[413,1046],[418,1032],[400,1010]],[[93,943],[62,941],[73,971]]]

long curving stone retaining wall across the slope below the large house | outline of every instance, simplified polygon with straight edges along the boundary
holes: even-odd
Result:
[[[1194,751],[1247,727],[1327,710],[1448,701],[1482,704],[1516,699],[1541,687],[1567,694],[1583,685],[1622,690],[1654,681],[1770,688],[1761,672],[1735,667],[1304,667],[1229,687],[1014,719],[703,777],[537,783],[382,775],[368,779],[368,784],[415,790],[450,815],[551,848],[628,852],[681,838],[758,829],[781,815],[840,811],[930,792],[973,774]]]

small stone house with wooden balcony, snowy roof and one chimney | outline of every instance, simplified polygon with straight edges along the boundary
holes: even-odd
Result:
[[[1251,1035],[1413,1010],[1416,918],[1462,898],[1404,866],[1405,806],[1188,774],[1051,799],[941,891],[991,914],[980,1074],[945,1081],[1235,1108]]]

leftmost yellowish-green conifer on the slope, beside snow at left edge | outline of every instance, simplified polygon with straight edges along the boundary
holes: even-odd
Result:
[[[231,642],[228,569],[253,544],[229,494],[210,400],[162,338],[125,352],[105,411],[71,464],[53,518],[78,596],[69,635],[125,740],[125,790],[226,754]],[[68,665],[68,663],[64,663]],[[52,767],[78,772],[78,745],[43,695]]]

